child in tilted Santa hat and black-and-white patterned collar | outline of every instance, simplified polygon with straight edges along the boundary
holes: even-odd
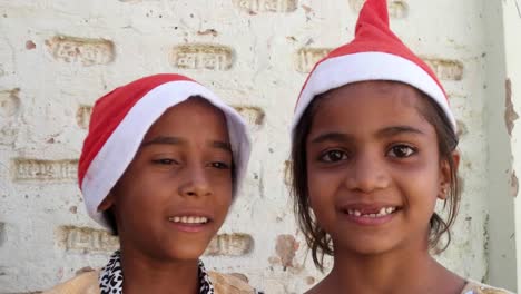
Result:
[[[141,78],[100,98],[79,161],[89,215],[119,235],[101,272],[49,293],[254,293],[206,272],[200,255],[244,178],[242,117],[178,75]]]

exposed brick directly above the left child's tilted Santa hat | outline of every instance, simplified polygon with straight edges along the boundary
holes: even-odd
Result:
[[[171,65],[183,69],[228,70],[234,59],[234,50],[220,45],[181,45],[170,55]]]

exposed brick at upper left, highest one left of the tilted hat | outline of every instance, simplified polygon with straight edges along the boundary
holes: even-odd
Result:
[[[115,58],[112,41],[105,39],[56,36],[46,46],[56,60],[68,63],[107,65]]]

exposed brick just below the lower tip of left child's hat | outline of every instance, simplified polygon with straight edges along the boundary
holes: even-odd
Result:
[[[110,253],[119,248],[118,237],[107,231],[90,227],[59,227],[57,239],[59,246],[68,252]]]

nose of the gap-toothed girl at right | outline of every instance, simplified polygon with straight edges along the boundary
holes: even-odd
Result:
[[[390,184],[385,158],[362,153],[351,164],[346,186],[352,190],[372,193],[386,188]]]

